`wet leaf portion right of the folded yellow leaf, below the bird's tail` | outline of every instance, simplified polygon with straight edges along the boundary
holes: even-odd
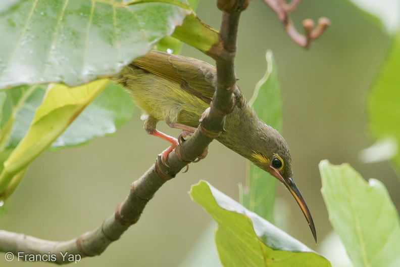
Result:
[[[113,82],[87,106],[50,147],[51,150],[85,144],[115,133],[132,117],[132,98]]]

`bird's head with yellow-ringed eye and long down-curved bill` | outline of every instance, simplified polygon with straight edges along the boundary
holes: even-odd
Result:
[[[262,129],[257,131],[258,144],[253,147],[251,160],[257,166],[269,172],[282,182],[290,191],[297,204],[302,209],[314,239],[317,242],[314,221],[310,210],[293,181],[289,147],[277,130],[264,123],[261,125],[261,128]]]

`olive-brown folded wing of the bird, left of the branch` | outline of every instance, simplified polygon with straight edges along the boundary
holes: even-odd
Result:
[[[151,51],[133,65],[180,84],[181,88],[210,103],[216,88],[214,66],[194,58]]]

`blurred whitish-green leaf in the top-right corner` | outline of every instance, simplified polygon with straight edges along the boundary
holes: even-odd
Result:
[[[383,26],[390,34],[400,26],[400,2],[398,0],[349,0],[360,8],[368,17]]]

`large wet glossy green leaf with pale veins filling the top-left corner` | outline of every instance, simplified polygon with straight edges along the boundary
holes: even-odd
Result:
[[[174,2],[165,1],[165,2]],[[165,3],[117,0],[0,2],[0,88],[118,72],[170,35],[190,13]]]

